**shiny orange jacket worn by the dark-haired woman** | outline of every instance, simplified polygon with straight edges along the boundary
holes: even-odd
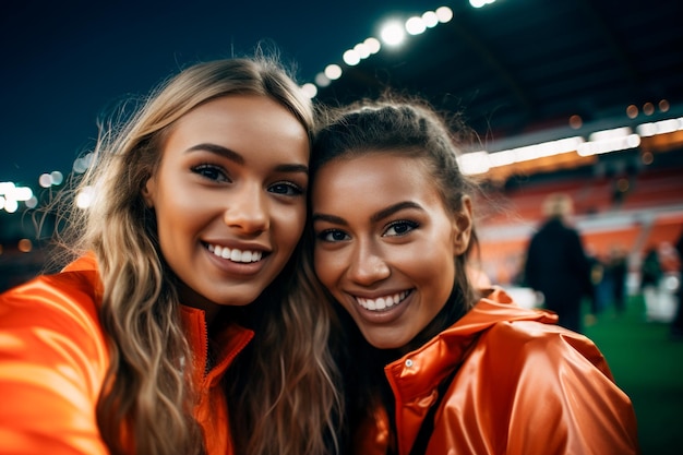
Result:
[[[396,400],[397,454],[408,455],[438,384],[458,364],[426,455],[635,454],[636,419],[604,358],[548,311],[496,289],[453,326],[385,367]],[[388,419],[356,434],[355,454],[386,453]]]

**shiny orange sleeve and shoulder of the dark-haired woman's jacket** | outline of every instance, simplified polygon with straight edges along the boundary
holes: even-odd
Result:
[[[598,348],[561,327],[498,324],[446,398],[428,454],[638,454],[633,405]],[[446,451],[446,452],[441,452]]]

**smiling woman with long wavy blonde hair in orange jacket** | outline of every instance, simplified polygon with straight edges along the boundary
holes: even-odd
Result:
[[[3,452],[334,452],[328,315],[296,272],[312,123],[255,57],[190,67],[103,133],[77,258],[0,296]]]

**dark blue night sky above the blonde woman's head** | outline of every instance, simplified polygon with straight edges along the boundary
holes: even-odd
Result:
[[[391,7],[383,3],[390,3]],[[25,1],[0,15],[0,181],[71,171],[96,121],[192,62],[276,47],[312,82],[383,19],[443,1]]]

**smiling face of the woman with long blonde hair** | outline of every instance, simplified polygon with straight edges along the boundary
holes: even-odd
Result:
[[[252,302],[281,272],[305,218],[309,140],[263,96],[212,100],[180,119],[143,193],[183,304]]]

